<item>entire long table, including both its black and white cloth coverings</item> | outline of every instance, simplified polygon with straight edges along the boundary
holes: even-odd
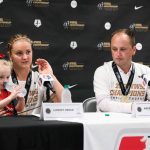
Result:
[[[122,113],[84,113],[51,121],[2,117],[0,144],[0,150],[148,150],[150,118]]]

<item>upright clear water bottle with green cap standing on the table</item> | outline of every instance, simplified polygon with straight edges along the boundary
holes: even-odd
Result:
[[[72,103],[71,92],[69,90],[69,85],[64,86],[64,90],[61,95],[62,103]]]

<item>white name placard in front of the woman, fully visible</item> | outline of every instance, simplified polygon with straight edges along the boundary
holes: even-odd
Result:
[[[54,118],[81,117],[82,103],[42,103],[40,118],[52,120]]]

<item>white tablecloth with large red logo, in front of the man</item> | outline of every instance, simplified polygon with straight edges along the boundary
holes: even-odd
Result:
[[[84,113],[81,118],[62,120],[84,124],[84,150],[150,150],[148,117],[133,118],[130,114],[122,113]]]

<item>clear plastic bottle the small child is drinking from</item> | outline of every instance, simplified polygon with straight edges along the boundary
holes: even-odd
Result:
[[[14,87],[16,87],[17,85],[16,84],[13,84],[13,83],[9,83],[9,82],[5,82],[4,83],[4,87],[7,91],[9,92],[12,92],[12,90],[14,89]],[[22,87],[21,88],[21,92],[18,94],[18,96],[20,97],[24,97],[25,95],[27,94],[27,90]]]

